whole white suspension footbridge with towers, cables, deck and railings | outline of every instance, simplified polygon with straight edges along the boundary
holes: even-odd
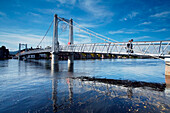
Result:
[[[58,38],[58,25],[62,21],[69,25],[69,41],[67,45],[60,45]],[[73,25],[73,22],[76,25]],[[38,55],[44,53],[50,53],[52,58],[52,64],[58,63],[58,54],[67,53],[68,63],[73,63],[75,53],[90,53],[90,54],[102,54],[102,55],[130,55],[130,56],[150,56],[159,59],[170,58],[170,41],[140,41],[140,42],[117,42],[116,40],[103,36],[92,30],[89,30],[80,24],[73,21],[73,19],[65,19],[62,17],[54,15],[54,19],[51,22],[47,32],[38,44],[38,46],[45,39],[49,29],[53,27],[53,40],[52,47],[48,48],[37,48],[34,50],[28,50],[27,44],[19,44],[19,55],[18,58],[25,57],[29,55]],[[83,33],[93,36],[97,39],[103,40],[104,43],[84,43],[84,44],[74,44],[73,41],[73,27],[82,31]],[[21,46],[25,45],[25,52],[21,53]]]

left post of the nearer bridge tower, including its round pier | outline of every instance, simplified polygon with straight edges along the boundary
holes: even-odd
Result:
[[[52,64],[58,64],[59,42],[58,42],[58,18],[54,15],[53,42],[52,42]]]

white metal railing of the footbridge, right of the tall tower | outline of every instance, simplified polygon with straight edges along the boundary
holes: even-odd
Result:
[[[127,46],[128,44],[129,42],[72,44],[61,45],[59,50],[61,52],[170,56],[170,41],[132,42],[132,49]]]

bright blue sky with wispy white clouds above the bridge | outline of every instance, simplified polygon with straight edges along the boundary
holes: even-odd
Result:
[[[170,0],[1,0],[0,46],[36,47],[55,13],[120,42],[170,40]],[[60,22],[59,41],[67,44],[68,26],[64,31],[63,26]],[[41,46],[51,45],[52,29]],[[74,28],[74,42],[104,41]]]

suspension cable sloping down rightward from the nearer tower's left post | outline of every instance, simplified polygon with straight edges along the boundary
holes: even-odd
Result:
[[[71,25],[70,23],[68,23],[67,21],[65,21],[64,19],[62,19],[62,18],[60,18],[60,17],[58,17],[58,19],[64,21],[65,23],[69,24],[70,26],[74,26],[76,29],[79,29],[79,30],[83,31],[83,32],[86,33],[86,34],[89,34],[89,35],[91,34],[92,36],[94,36],[94,37],[96,37],[96,38],[99,38],[99,39],[104,40],[104,41],[107,41],[107,42],[111,42],[111,41],[108,41],[108,40],[106,40],[106,39],[104,39],[104,38],[101,38],[101,37],[99,37],[99,36],[96,36],[95,34],[89,33],[89,32],[87,32],[87,31],[85,31],[85,30],[83,30],[83,29],[81,29],[81,28],[78,28],[78,27],[75,26],[75,25]]]

